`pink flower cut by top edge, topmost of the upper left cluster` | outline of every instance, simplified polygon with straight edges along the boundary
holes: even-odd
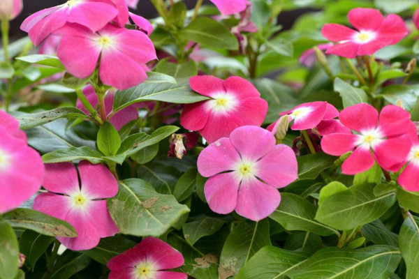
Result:
[[[51,33],[64,27],[67,22],[81,24],[96,32],[118,15],[117,8],[106,2],[108,1],[69,0],[62,5],[40,10],[27,17],[20,29],[29,33],[34,45],[39,45]],[[128,14],[128,10],[126,13]]]

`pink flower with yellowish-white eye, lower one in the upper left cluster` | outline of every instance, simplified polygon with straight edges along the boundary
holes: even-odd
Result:
[[[86,78],[99,63],[104,84],[128,89],[147,79],[145,63],[156,59],[152,41],[145,33],[108,24],[97,33],[78,24],[67,24],[57,55],[69,73]]]

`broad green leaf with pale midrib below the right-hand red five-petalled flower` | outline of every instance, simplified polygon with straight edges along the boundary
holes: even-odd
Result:
[[[394,193],[374,195],[375,184],[352,186],[328,197],[318,207],[316,220],[335,229],[348,230],[380,218],[395,203]]]

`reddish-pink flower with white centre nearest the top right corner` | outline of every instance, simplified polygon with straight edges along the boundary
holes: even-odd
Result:
[[[395,45],[407,34],[406,24],[398,15],[383,17],[379,10],[354,8],[348,13],[349,22],[355,31],[340,24],[325,24],[321,33],[325,38],[338,43],[326,53],[347,58],[372,55],[387,45]]]

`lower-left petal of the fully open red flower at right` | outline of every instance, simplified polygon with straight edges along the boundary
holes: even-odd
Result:
[[[372,158],[369,149],[357,148],[351,156],[349,156],[342,164],[343,174],[359,174],[365,172],[374,165],[374,158]]]

